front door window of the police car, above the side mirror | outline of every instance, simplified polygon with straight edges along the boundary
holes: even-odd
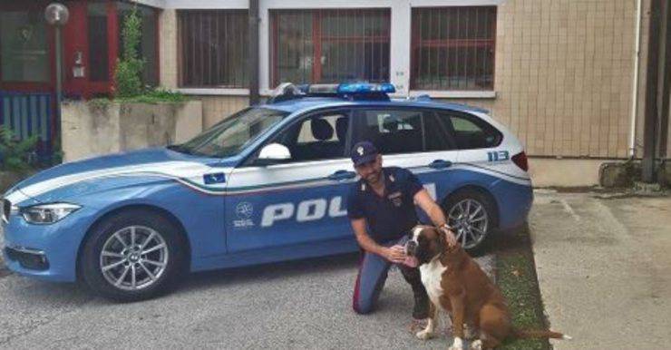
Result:
[[[310,116],[280,132],[275,141],[291,152],[291,161],[329,160],[345,157],[349,111]]]

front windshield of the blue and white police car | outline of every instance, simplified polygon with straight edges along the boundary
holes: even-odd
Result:
[[[287,117],[289,113],[267,108],[248,108],[203,131],[195,138],[170,150],[223,158],[238,154],[259,135]]]

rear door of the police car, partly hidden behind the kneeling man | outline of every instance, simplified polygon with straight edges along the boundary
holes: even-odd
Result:
[[[413,171],[433,199],[452,186],[457,152],[452,137],[436,113],[422,108],[356,110],[355,141],[372,141],[383,154],[383,166]]]

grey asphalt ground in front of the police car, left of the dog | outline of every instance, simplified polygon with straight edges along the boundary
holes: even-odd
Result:
[[[447,346],[444,334],[423,342],[407,331],[413,295],[397,269],[389,274],[377,310],[356,315],[351,298],[357,261],[356,255],[345,255],[199,273],[169,296],[132,304],[92,297],[75,284],[9,274],[0,277],[0,347]],[[491,272],[492,256],[480,261]]]

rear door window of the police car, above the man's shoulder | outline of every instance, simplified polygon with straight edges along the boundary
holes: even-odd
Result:
[[[423,112],[413,110],[362,110],[363,132],[383,154],[423,151]]]

